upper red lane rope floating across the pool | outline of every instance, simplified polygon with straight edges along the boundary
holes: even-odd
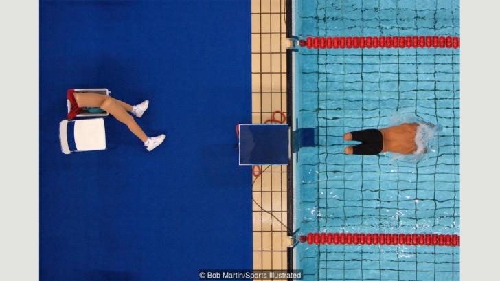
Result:
[[[299,40],[308,49],[358,48],[453,48],[460,47],[460,37],[452,36],[380,36],[380,37],[308,37]]]

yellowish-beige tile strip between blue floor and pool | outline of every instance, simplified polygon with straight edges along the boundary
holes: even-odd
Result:
[[[253,124],[262,124],[276,110],[286,114],[285,2],[251,0]],[[286,270],[291,243],[286,236],[286,166],[261,168],[252,188],[253,269]]]

